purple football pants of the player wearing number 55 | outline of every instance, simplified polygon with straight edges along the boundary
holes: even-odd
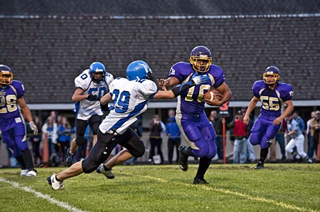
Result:
[[[249,141],[252,145],[260,144],[261,149],[269,147],[268,141],[276,137],[276,134],[281,127],[281,124],[272,124],[275,119],[276,117],[258,117],[256,122],[254,122],[249,137]]]

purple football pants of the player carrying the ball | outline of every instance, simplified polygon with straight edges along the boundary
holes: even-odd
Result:
[[[204,112],[197,116],[177,115],[176,122],[194,156],[209,159],[216,156],[216,132]]]

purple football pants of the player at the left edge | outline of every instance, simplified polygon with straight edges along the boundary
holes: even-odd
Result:
[[[2,132],[2,139],[6,143],[14,157],[19,157],[21,152],[28,149],[28,144],[26,143],[26,127],[24,123],[16,124],[15,127]]]

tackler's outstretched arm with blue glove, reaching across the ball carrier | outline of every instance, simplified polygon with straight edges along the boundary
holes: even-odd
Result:
[[[182,92],[188,90],[194,85],[204,84],[208,80],[210,80],[209,75],[198,75],[172,90],[159,90],[156,95],[154,95],[154,99],[173,99],[174,97],[179,96]]]

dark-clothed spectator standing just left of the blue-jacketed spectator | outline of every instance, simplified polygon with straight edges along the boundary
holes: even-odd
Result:
[[[154,156],[155,154],[155,149],[157,149],[157,157],[160,157],[161,161],[160,164],[164,163],[164,154],[162,154],[162,137],[161,133],[166,130],[166,125],[164,122],[161,122],[159,115],[154,115],[154,118],[152,122],[149,123],[149,142],[150,142],[150,152],[149,152],[149,161],[151,163],[155,163],[154,161]]]

